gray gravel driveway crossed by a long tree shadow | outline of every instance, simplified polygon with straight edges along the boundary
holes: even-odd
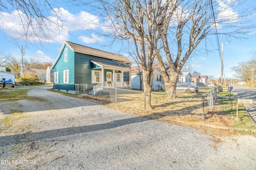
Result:
[[[0,169],[255,170],[256,139],[214,143],[200,131],[115,111],[35,88],[38,100],[0,103],[0,119],[19,109],[0,133]],[[22,162],[23,161],[23,162]]]

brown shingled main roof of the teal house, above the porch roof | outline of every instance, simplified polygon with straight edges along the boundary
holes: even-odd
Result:
[[[74,50],[75,52],[78,52],[78,53],[93,55],[93,56],[101,57],[101,58],[104,58],[104,59],[110,59],[110,60],[113,60],[113,61],[119,61],[119,62],[124,62],[124,63],[132,63],[132,61],[126,59],[126,57],[124,57],[122,55],[109,53],[109,52],[101,51],[101,50],[98,50],[98,49],[93,49],[93,48],[86,47],[86,46],[83,46],[83,45],[71,43],[69,41],[65,41],[65,42],[72,50]]]

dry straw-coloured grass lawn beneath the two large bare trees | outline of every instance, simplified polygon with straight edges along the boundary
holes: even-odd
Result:
[[[176,99],[171,99],[164,94],[152,94],[152,110],[144,110],[144,94],[122,94],[117,97],[115,95],[86,96],[84,99],[148,119],[194,127],[211,135],[226,136],[239,131],[233,128],[236,121],[230,115],[221,113],[222,106],[218,104],[218,100],[211,111],[205,108],[207,114],[203,120],[202,98],[198,96],[180,95]],[[117,103],[114,103],[115,101]]]

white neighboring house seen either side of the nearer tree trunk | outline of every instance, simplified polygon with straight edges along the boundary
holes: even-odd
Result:
[[[142,81],[142,69],[141,66],[133,66],[132,69],[132,88],[140,89],[140,78]],[[161,76],[161,73],[158,69],[154,70],[153,74],[153,82],[152,82],[152,90],[160,90],[162,89],[160,84],[164,83],[164,78]],[[143,89],[143,83],[142,83]]]

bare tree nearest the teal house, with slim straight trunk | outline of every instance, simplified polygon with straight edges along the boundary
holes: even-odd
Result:
[[[84,1],[76,0],[80,5]],[[95,12],[108,24],[108,32],[116,38],[130,41],[136,49],[136,56],[142,68],[146,109],[151,106],[151,88],[153,79],[154,57],[158,53],[160,26],[166,16],[163,13],[174,13],[177,7],[175,0],[105,0],[90,1]]]

